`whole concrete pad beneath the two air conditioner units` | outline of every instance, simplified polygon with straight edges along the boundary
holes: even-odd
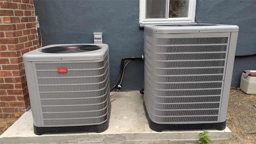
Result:
[[[113,94],[113,93],[112,93]],[[202,130],[175,130],[155,132],[148,126],[143,108],[143,95],[139,91],[117,92],[114,100],[108,130],[102,133],[77,132],[54,133],[38,136],[33,131],[33,117],[25,112],[8,130],[0,136],[1,144],[47,144],[47,143],[94,143],[94,144],[169,144],[198,143]],[[231,131],[207,130],[211,142],[230,140]]]

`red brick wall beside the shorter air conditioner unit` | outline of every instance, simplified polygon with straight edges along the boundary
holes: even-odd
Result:
[[[0,118],[30,106],[22,54],[39,48],[33,0],[0,0]]]

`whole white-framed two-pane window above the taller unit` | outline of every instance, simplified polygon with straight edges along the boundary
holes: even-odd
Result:
[[[140,23],[194,22],[196,0],[140,0]]]

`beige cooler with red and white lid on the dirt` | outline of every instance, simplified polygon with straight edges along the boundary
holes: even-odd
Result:
[[[256,70],[243,71],[240,89],[246,94],[256,94]]]

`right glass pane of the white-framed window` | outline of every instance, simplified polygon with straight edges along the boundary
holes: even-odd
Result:
[[[189,0],[170,0],[169,18],[188,17]]]

